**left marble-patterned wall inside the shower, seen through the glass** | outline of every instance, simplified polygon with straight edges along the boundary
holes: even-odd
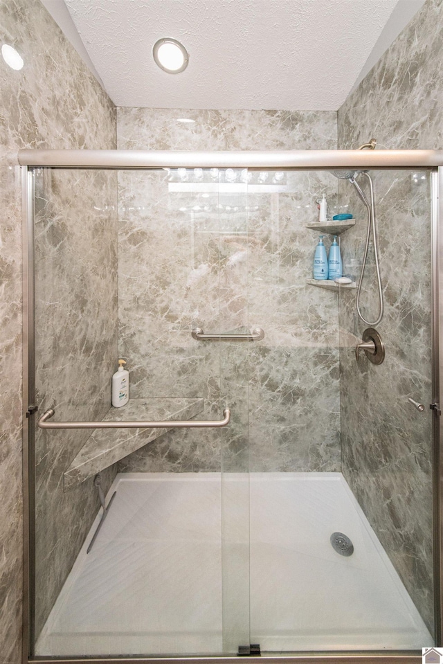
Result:
[[[40,413],[53,407],[61,421],[100,420],[111,403],[118,323],[116,182],[112,171],[35,174],[37,404]],[[64,472],[90,433],[35,434],[37,633],[95,518],[92,477],[64,492]],[[105,483],[114,474],[109,469]]]

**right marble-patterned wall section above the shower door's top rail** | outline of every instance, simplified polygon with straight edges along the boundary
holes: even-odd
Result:
[[[338,147],[441,149],[443,0],[426,0],[338,109]]]

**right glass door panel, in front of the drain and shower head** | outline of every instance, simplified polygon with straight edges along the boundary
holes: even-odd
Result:
[[[356,313],[368,224],[356,188],[327,172],[248,184],[249,315],[266,330],[249,358],[251,640],[262,652],[433,645],[430,174],[373,175],[379,366],[355,357],[369,327]],[[357,181],[370,201],[367,177]],[[331,222],[354,216],[338,235],[345,287],[312,279],[323,193]],[[368,321],[376,278],[371,241]]]

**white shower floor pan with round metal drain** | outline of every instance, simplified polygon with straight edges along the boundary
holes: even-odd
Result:
[[[222,477],[119,474],[107,520],[87,554],[99,517],[93,524],[36,654],[219,654],[224,644],[226,652],[230,609],[242,615],[248,598],[241,584],[229,595],[235,582],[229,546],[222,575],[221,493],[224,510],[234,505],[224,514],[226,537],[242,511],[226,496],[247,481]],[[250,642],[262,652],[433,645],[340,473],[251,474],[250,520]],[[352,540],[350,557],[332,548],[336,531]],[[239,550],[246,567],[237,573],[247,574],[249,549],[237,546],[237,565]]]

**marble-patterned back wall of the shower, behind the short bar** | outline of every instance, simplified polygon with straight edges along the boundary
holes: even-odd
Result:
[[[330,112],[119,108],[117,118],[122,149],[336,147]],[[218,177],[226,184],[224,172]],[[120,461],[120,470],[340,469],[338,302],[306,283],[317,242],[306,224],[317,218],[323,191],[334,204],[336,180],[286,174],[282,191],[262,193],[253,177],[253,190],[241,190],[237,173],[238,191],[208,188],[202,196],[193,172],[188,191],[173,190],[177,172],[119,174],[119,339],[132,395],[203,396],[207,418],[232,409],[227,429],[168,433]],[[254,325],[264,328],[263,341],[201,343],[190,335],[194,326]]]

